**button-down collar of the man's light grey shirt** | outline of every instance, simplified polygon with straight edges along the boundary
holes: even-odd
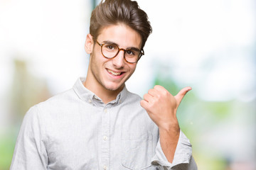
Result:
[[[105,105],[102,102],[102,99],[97,97],[95,94],[92,93],[89,89],[87,89],[84,85],[83,82],[85,81],[85,77],[80,77],[78,80],[75,82],[73,89],[75,93],[78,95],[78,97],[87,103],[90,103],[92,105]],[[124,99],[127,97],[127,88],[124,86],[124,89],[117,95],[117,98],[114,101],[110,101],[110,103],[107,104],[120,104],[124,101]]]

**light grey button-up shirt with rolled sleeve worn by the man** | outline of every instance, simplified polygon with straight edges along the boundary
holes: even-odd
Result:
[[[173,163],[167,161],[137,94],[124,87],[105,104],[82,81],[26,113],[11,170],[197,169],[183,132]]]

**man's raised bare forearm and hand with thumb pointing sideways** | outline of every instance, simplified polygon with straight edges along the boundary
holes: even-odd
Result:
[[[169,163],[174,161],[178,142],[182,142],[176,111],[183,96],[190,90],[191,87],[186,87],[176,96],[172,96],[164,87],[154,86],[154,89],[150,89],[141,101],[142,107],[159,127],[160,147]],[[191,149],[191,146],[188,149]]]

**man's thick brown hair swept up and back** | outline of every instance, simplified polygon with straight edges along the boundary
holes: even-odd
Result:
[[[90,34],[95,41],[105,26],[124,23],[142,36],[142,48],[152,32],[146,13],[139,8],[137,1],[105,0],[92,11]]]

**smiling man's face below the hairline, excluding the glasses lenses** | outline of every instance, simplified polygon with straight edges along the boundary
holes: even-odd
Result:
[[[92,38],[87,36],[87,38]],[[135,30],[124,24],[112,25],[103,28],[97,38],[100,44],[113,42],[119,48],[127,49],[135,47],[141,49],[142,38]],[[101,47],[97,42],[92,45],[90,64],[87,74],[89,86],[97,90],[122,91],[125,81],[132,76],[137,63],[130,64],[124,60],[124,51],[112,59],[102,55]],[[86,49],[86,47],[85,47]]]

